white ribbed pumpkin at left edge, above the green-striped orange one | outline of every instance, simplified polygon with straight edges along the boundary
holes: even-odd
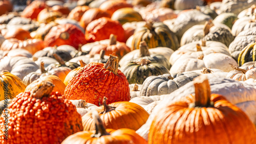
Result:
[[[23,56],[4,57],[0,60],[0,71],[8,70],[11,74],[17,76],[21,80],[38,68],[36,63]]]

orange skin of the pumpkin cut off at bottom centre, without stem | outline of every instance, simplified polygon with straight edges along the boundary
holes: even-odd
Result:
[[[146,140],[131,129],[106,129],[110,135],[104,135],[100,138],[92,137],[94,131],[81,131],[67,137],[61,144],[69,143],[87,143],[87,144],[146,144]]]

